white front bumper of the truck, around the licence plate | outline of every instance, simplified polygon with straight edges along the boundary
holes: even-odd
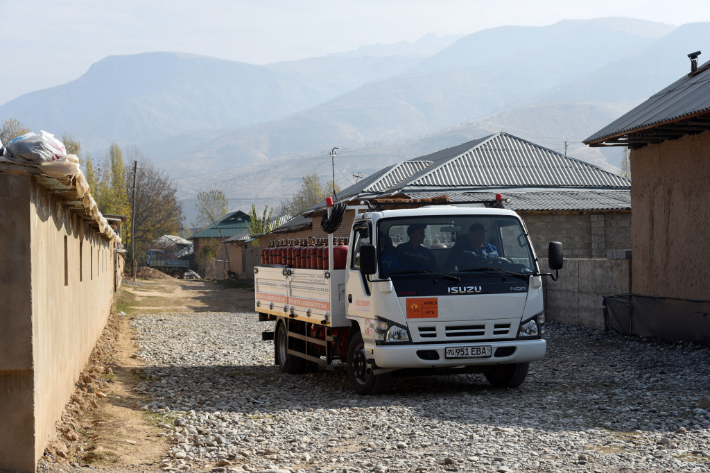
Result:
[[[447,347],[457,345],[466,346],[491,346],[492,356],[488,358],[456,358],[446,359],[444,351]],[[513,352],[507,356],[496,357],[496,349],[506,350],[499,353]],[[537,361],[545,357],[547,342],[544,339],[511,340],[509,342],[473,342],[465,344],[408,344],[408,345],[375,345],[366,344],[365,353],[368,359],[374,359],[378,368],[447,368],[453,366],[474,366],[491,364],[524,363]],[[420,352],[420,353],[417,353]],[[439,359],[424,359],[430,357],[432,352],[437,352]]]

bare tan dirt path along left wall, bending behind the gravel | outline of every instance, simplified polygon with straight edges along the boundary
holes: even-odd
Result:
[[[70,445],[70,462],[112,472],[155,471],[168,450],[160,423],[171,419],[141,410],[148,397],[133,391],[146,379],[134,354],[136,345],[130,322],[134,314],[161,312],[237,312],[253,309],[253,290],[238,283],[205,281],[138,280],[140,286],[123,286],[114,308],[118,332],[113,341],[109,383],[102,388],[99,406],[76,420],[80,439]],[[125,315],[121,315],[123,312]],[[60,435],[61,437],[61,435]],[[82,450],[83,449],[83,450]],[[67,465],[40,464],[39,470],[65,470]]]

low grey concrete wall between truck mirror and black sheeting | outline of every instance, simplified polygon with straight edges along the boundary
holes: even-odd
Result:
[[[603,298],[630,292],[630,259],[564,259],[559,278],[545,278],[545,314],[555,320],[586,327],[604,327]],[[551,272],[547,259],[540,271]]]

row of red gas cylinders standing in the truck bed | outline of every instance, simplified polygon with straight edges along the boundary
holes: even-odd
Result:
[[[333,269],[345,269],[348,257],[348,238],[333,241]],[[271,241],[261,250],[261,264],[279,264],[289,268],[328,269],[328,240],[286,239]]]

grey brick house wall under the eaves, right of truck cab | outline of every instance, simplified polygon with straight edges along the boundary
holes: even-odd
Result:
[[[562,241],[564,256],[604,258],[606,250],[631,248],[631,212],[518,212],[538,257],[550,241]]]

